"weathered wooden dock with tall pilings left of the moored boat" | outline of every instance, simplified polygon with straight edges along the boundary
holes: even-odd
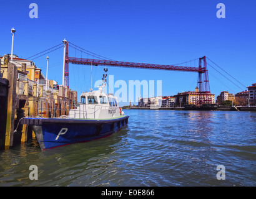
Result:
[[[3,63],[0,65],[0,150],[36,137],[29,125],[20,124],[22,118],[58,117],[68,114],[68,111],[61,111],[61,107],[67,109],[77,102],[77,91],[67,86],[47,90],[46,86],[27,79],[26,63],[17,70],[8,55],[4,56]]]

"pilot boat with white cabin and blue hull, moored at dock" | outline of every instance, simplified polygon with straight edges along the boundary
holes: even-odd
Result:
[[[117,97],[104,93],[107,69],[104,71],[99,89],[82,93],[81,102],[70,106],[68,115],[22,119],[21,124],[31,125],[42,150],[110,136],[127,126],[129,116],[124,115]]]

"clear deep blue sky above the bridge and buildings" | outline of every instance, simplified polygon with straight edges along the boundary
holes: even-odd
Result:
[[[225,4],[225,19],[216,17],[220,2]],[[31,3],[38,5],[37,19],[29,17]],[[255,8],[256,2],[249,0],[4,1],[0,7],[0,55],[11,53],[14,27],[14,54],[21,58],[61,44],[66,38],[83,49],[119,61],[170,65],[206,56],[248,86],[256,83]],[[69,54],[93,58],[74,49]],[[47,55],[49,79],[61,85],[63,49]],[[47,55],[33,60],[45,76]],[[198,67],[198,60],[184,66]],[[92,68],[93,82],[102,77],[103,68]],[[209,65],[208,69],[210,91],[215,96],[224,90],[234,94],[242,91]],[[197,73],[193,72],[109,67],[109,75],[127,85],[129,80],[154,80],[156,87],[156,81],[162,80],[164,96],[197,86]],[[70,88],[79,94],[88,91],[91,67],[70,64],[69,81]]]

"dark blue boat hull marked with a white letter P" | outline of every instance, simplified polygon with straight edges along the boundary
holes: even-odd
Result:
[[[129,116],[106,120],[26,118],[21,123],[32,126],[39,146],[45,150],[109,136],[126,127],[128,118]]]

